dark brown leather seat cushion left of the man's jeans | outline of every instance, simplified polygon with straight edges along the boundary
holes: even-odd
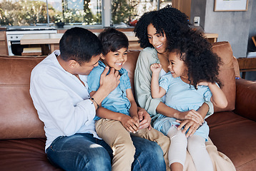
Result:
[[[61,171],[44,152],[45,139],[0,140],[0,170]]]

